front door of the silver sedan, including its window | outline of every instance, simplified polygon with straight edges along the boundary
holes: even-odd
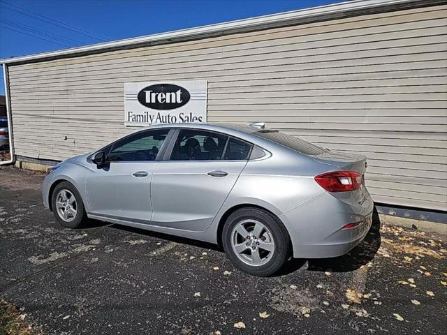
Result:
[[[149,223],[150,181],[170,129],[140,131],[107,147],[108,163],[87,175],[91,214]]]

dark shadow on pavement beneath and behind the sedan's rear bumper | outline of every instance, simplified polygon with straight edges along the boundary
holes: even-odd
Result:
[[[277,276],[290,274],[303,267],[307,262],[307,271],[350,272],[366,265],[376,255],[381,245],[380,219],[376,207],[372,214],[372,225],[365,239],[346,255],[335,258],[302,259],[292,258],[277,273]]]

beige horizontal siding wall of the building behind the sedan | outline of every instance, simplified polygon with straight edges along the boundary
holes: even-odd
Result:
[[[131,131],[124,82],[207,80],[208,121],[366,154],[376,202],[446,210],[446,27],[435,6],[10,66],[15,154],[61,160]]]

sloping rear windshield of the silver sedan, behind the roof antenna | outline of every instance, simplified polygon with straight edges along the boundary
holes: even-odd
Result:
[[[284,147],[288,147],[300,152],[301,154],[309,156],[321,155],[328,152],[328,149],[318,147],[315,144],[306,142],[305,140],[301,140],[300,138],[292,135],[287,135],[286,133],[281,133],[280,131],[256,131],[253,135],[263,137],[265,140],[270,140],[274,143],[284,145]]]

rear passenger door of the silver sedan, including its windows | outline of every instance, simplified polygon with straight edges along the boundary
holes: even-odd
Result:
[[[251,144],[220,133],[179,129],[152,177],[153,225],[207,229],[240,172]]]

